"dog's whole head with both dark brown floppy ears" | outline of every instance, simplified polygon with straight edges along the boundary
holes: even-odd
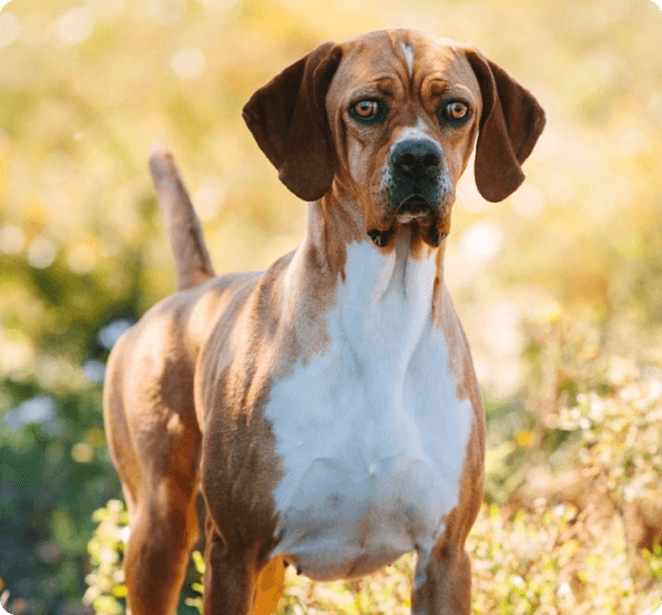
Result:
[[[352,195],[378,246],[403,224],[439,245],[473,143],[479,192],[506,198],[544,126],[531,93],[480,52],[406,30],[322,44],[255,92],[244,119],[295,195]]]

